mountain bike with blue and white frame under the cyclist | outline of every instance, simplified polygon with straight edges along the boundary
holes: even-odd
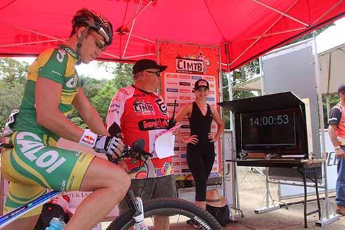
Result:
[[[0,148],[12,147],[12,144],[0,143]],[[150,153],[146,153],[144,151],[144,140],[138,140],[132,145],[132,147],[125,146],[123,153],[117,160],[130,157],[143,162],[144,164],[141,165],[142,167],[146,164],[146,160],[148,160],[148,157],[150,156],[152,156]],[[112,160],[109,156],[108,160],[117,163],[117,160]],[[141,167],[139,167],[139,169],[135,169],[135,171],[139,171]],[[133,173],[135,171],[130,171],[128,173]],[[60,193],[63,193],[63,191],[50,191],[49,193],[32,200],[28,204],[24,204],[23,206],[2,215],[0,217],[0,229],[10,224],[10,222],[17,220],[17,218],[28,211],[37,208],[39,205],[45,204]],[[189,219],[193,220],[195,225],[194,227],[197,227],[197,229],[221,229],[220,224],[215,220],[213,215],[187,200],[163,198],[150,200],[150,202],[143,204],[141,198],[135,197],[130,189],[126,195],[126,201],[128,202],[130,209],[113,220],[108,226],[108,230],[122,230],[129,229],[130,227],[135,227],[136,230],[152,229],[154,226],[154,215],[169,217],[170,229],[188,229],[186,227],[190,225],[186,224],[186,221]],[[192,229],[194,229],[194,227],[192,227]]]

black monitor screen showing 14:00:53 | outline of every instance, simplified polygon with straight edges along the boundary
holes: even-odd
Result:
[[[243,151],[298,150],[299,110],[241,113]]]

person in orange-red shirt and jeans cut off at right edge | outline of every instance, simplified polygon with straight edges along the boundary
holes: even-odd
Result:
[[[334,106],[328,119],[328,133],[338,158],[335,202],[337,213],[345,215],[345,84],[338,88],[339,103]]]

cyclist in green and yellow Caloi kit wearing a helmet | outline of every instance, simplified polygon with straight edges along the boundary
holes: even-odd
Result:
[[[72,32],[65,44],[41,52],[29,67],[28,81],[19,108],[12,114],[12,149],[1,155],[1,173],[10,181],[5,210],[38,198],[46,189],[93,191],[83,200],[65,230],[92,229],[126,195],[128,174],[119,166],[94,155],[57,148],[59,137],[113,158],[124,144],[109,135],[79,87],[75,66],[88,64],[112,43],[112,25],[98,12],[83,8],[72,19]],[[77,108],[90,131],[83,131],[68,117]],[[34,229],[41,207],[4,229]]]

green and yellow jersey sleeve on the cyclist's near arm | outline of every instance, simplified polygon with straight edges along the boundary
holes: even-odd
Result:
[[[67,59],[66,50],[61,48],[43,52],[38,57],[38,77],[48,78],[62,85],[66,73]]]

